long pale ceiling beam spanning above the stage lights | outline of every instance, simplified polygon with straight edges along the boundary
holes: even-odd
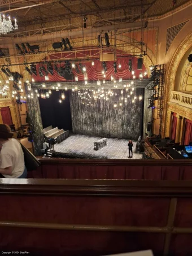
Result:
[[[118,29],[136,29],[136,28],[146,28],[147,21],[138,21],[134,23],[119,23],[111,26],[100,27],[100,28],[88,28],[84,30],[84,36],[93,33],[101,33],[103,31],[117,31]],[[22,32],[18,32],[22,33]],[[18,37],[18,38],[8,38],[0,37],[0,44],[21,44],[22,42],[42,42],[44,40],[49,40],[50,38],[54,38],[54,41],[60,41],[62,37],[69,37],[69,38],[78,38],[82,37],[82,30],[79,31],[60,31],[54,32],[51,34],[45,34],[42,36],[41,34],[36,34],[34,36],[26,36],[26,37]]]

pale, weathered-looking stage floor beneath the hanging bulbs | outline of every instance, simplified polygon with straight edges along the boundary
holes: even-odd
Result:
[[[129,159],[128,140],[107,138],[107,146],[94,150],[94,142],[101,137],[91,137],[73,134],[66,140],[55,144],[55,153],[64,153],[74,157],[99,159]],[[142,154],[136,151],[136,141],[133,141],[133,158],[142,159]]]

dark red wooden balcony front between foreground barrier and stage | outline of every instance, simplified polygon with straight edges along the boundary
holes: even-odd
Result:
[[[35,179],[192,180],[189,159],[40,159]]]

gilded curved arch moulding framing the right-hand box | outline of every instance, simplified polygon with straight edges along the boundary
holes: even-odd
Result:
[[[191,47],[192,41],[191,41],[192,33],[190,33],[184,41],[181,42],[180,46],[178,46],[177,50],[174,52],[173,58],[171,60],[171,63],[169,64],[169,69],[167,72],[167,77],[165,80],[165,102],[168,102],[169,99],[171,98],[171,91],[174,90],[174,83],[175,83],[175,77],[176,77],[176,72],[178,65],[181,62],[182,57],[186,53],[186,51]],[[166,106],[165,106],[166,109]],[[164,111],[163,114],[163,133],[162,136],[165,134],[166,130],[166,111]]]

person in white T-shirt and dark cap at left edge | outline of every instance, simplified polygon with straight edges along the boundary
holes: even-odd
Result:
[[[13,137],[10,127],[0,124],[0,173],[5,178],[27,178],[27,169],[20,142]]]

